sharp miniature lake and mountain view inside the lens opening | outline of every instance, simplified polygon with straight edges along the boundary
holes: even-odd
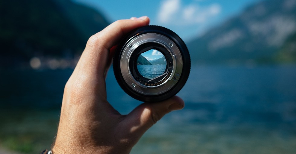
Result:
[[[153,79],[166,71],[166,58],[158,50],[148,50],[138,57],[137,69],[144,78]]]

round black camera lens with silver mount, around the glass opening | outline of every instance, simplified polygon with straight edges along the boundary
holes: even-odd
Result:
[[[157,38],[147,42],[150,34],[153,37],[156,35]],[[141,37],[143,39],[140,39]],[[137,39],[144,43],[137,42]],[[164,40],[162,41],[162,39]],[[168,42],[167,40],[171,43],[163,43]],[[136,45],[138,46],[135,47]],[[173,45],[176,47],[170,48]],[[159,81],[157,79],[153,83],[144,81],[144,79],[142,81],[135,65],[137,55],[145,52],[145,48],[150,47],[160,50],[167,60],[165,72],[167,74],[163,75],[163,78],[159,77]],[[175,56],[175,53],[180,58],[176,58],[178,56]],[[125,57],[123,58],[123,56]],[[161,26],[143,26],[131,31],[118,44],[113,60],[114,75],[120,87],[131,97],[145,102],[158,102],[177,94],[188,79],[190,66],[190,55],[183,40],[175,32]],[[178,71],[175,70],[175,67],[179,67]],[[161,91],[162,87],[168,88]]]

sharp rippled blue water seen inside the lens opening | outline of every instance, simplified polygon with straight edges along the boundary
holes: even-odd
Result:
[[[164,73],[166,65],[137,65],[137,69],[144,78],[153,79]]]

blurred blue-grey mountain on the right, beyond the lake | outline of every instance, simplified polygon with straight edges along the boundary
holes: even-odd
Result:
[[[281,55],[295,62],[295,33],[296,0],[265,0],[187,46],[195,63],[274,63]]]

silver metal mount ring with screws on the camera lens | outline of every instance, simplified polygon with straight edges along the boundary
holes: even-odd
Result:
[[[170,54],[165,56],[170,56],[174,64],[171,66],[172,70],[169,71],[169,73],[167,73],[168,75],[163,76],[163,78],[160,79],[160,81],[157,82],[156,85],[150,84],[150,86],[148,86],[148,83],[143,85],[139,81],[137,81],[135,77],[132,75],[130,71],[131,69],[129,67],[129,63],[131,61],[130,60],[131,54],[134,53],[137,47],[149,42],[157,43],[159,45],[162,45],[164,48],[166,48],[166,50],[168,50]],[[134,89],[140,94],[145,94],[145,95],[163,94],[169,89],[171,89],[172,87],[174,87],[174,85],[179,80],[178,77],[182,75],[182,57],[181,57],[180,50],[172,42],[172,40],[170,40],[166,36],[156,34],[156,33],[139,35],[133,38],[132,40],[130,40],[122,52],[120,61],[121,61],[120,62],[121,74],[123,75],[124,81],[127,83],[127,85],[130,86],[130,88]]]

